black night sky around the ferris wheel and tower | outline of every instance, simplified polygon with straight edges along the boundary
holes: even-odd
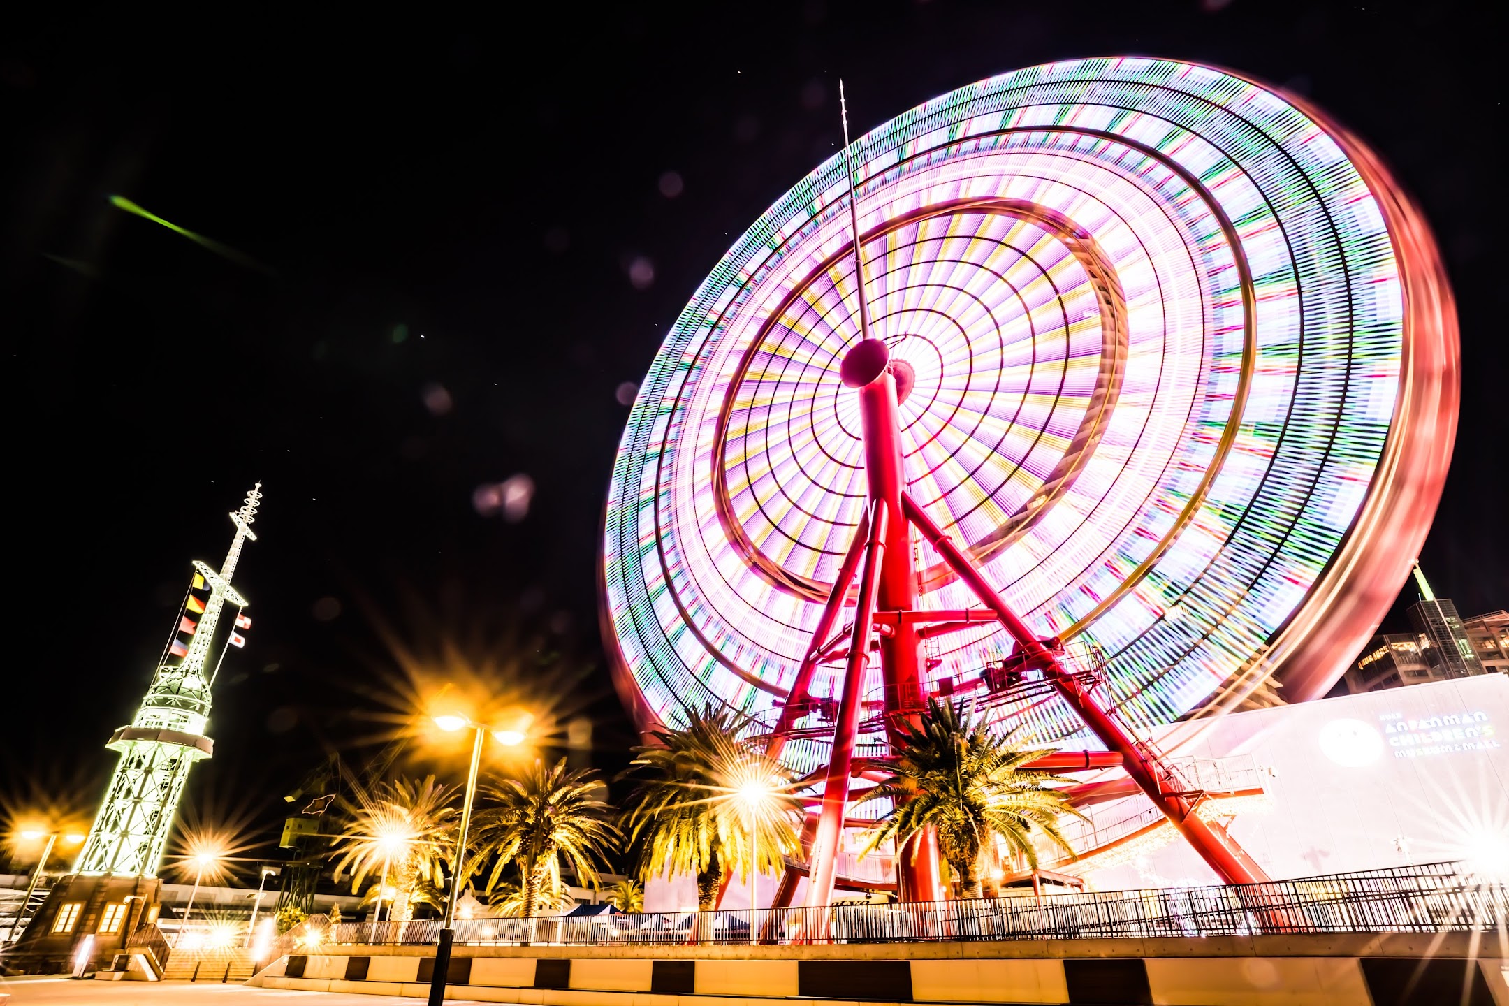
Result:
[[[0,39],[12,801],[41,784],[95,804],[189,560],[219,563],[254,480],[263,540],[237,582],[255,626],[195,769],[207,813],[276,822],[323,750],[359,757],[394,691],[379,626],[421,656],[451,639],[590,665],[572,703],[598,763],[622,765],[595,596],[616,389],[836,149],[839,75],[863,131],[1019,66],[1174,56],[1370,140],[1424,204],[1462,320],[1462,433],[1423,561],[1464,612],[1509,605],[1488,273],[1503,68],[1477,5],[44,6]],[[480,516],[475,487],[518,474],[528,516]]]

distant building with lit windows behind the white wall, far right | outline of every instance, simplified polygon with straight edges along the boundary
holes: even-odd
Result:
[[[1414,576],[1420,587],[1420,602],[1409,608],[1414,632],[1373,636],[1348,668],[1346,691],[1357,695],[1485,671],[1509,673],[1509,614],[1464,620],[1449,597],[1435,596],[1418,563]]]

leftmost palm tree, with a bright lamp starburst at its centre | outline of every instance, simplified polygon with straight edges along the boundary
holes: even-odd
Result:
[[[388,909],[389,919],[413,919],[413,906],[435,903],[435,891],[445,884],[445,863],[456,845],[453,798],[454,790],[433,775],[358,789],[355,799],[343,801],[346,830],[337,839],[341,858],[335,878],[350,870],[352,891],[358,891],[368,873],[380,872],[379,894],[383,887],[401,893]]]

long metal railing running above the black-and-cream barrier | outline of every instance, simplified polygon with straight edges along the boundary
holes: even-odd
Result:
[[[1268,884],[890,905],[466,919],[457,944],[685,946],[1093,940],[1328,932],[1488,931],[1509,923],[1509,887],[1452,863]],[[338,946],[424,946],[439,922],[343,923],[282,938],[276,953]],[[315,935],[315,932],[318,935]]]

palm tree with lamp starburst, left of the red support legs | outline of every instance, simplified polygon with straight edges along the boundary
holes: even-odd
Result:
[[[652,733],[656,744],[634,748],[629,765],[641,780],[623,817],[637,870],[696,875],[699,911],[714,909],[730,869],[779,870],[797,846],[792,774],[742,736],[748,722],[711,707],[690,713],[685,730]]]

